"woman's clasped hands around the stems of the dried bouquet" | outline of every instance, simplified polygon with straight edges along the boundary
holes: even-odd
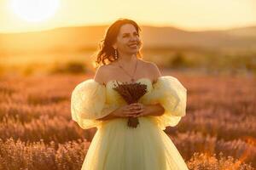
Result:
[[[119,107],[117,110],[113,111],[113,116],[117,117],[129,117],[129,116],[137,116],[143,110],[140,109],[139,105],[124,105]]]

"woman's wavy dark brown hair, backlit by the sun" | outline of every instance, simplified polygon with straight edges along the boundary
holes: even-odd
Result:
[[[133,20],[128,19],[119,19],[116,20],[111,26],[108,27],[108,30],[105,33],[104,38],[99,44],[99,50],[96,54],[96,67],[103,64],[106,65],[105,59],[108,60],[108,62],[113,62],[114,59],[114,48],[113,43],[116,41],[116,38],[119,34],[119,30],[121,26],[124,26],[125,24],[131,24],[134,26],[137,30],[138,35],[140,35],[141,28],[137,25],[137,23]],[[142,44],[142,42],[140,42]],[[140,51],[137,52],[137,57],[142,58],[142,54]]]

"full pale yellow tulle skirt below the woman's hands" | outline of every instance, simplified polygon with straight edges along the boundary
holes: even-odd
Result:
[[[83,170],[186,170],[172,140],[150,117],[139,117],[137,128],[127,119],[102,123],[91,141]]]

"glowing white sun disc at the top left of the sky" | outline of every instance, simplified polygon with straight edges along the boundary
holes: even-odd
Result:
[[[52,17],[60,6],[59,0],[12,0],[11,8],[22,20],[40,22]]]

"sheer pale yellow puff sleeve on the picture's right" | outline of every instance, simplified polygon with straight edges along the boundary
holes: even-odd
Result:
[[[165,130],[167,126],[176,126],[181,117],[186,115],[187,89],[175,77],[159,77],[153,84],[148,102],[159,103],[164,107],[164,114],[154,116],[154,119]]]

